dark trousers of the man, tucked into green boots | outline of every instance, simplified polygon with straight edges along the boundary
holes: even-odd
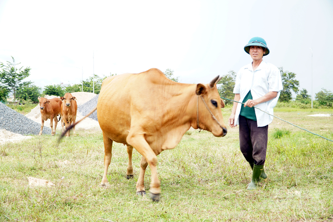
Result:
[[[239,115],[240,151],[246,161],[263,165],[266,160],[268,125],[258,127],[257,121]]]

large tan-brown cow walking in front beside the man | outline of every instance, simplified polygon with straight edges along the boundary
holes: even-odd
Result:
[[[143,180],[149,165],[149,194],[152,200],[159,201],[161,183],[156,170],[157,155],[176,147],[190,127],[210,131],[214,136],[227,133],[220,109],[224,103],[216,88],[219,80],[217,76],[210,84],[176,83],[156,68],[138,74],[125,73],[106,78],[102,83],[97,107],[93,110],[97,109],[104,141],[104,175],[100,185],[108,184],[107,172],[113,141],[123,143],[127,145],[129,158],[127,178],[133,176],[134,147],[143,155],[136,185],[137,194],[145,195]]]

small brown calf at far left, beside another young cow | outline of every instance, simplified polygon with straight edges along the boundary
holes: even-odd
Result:
[[[50,127],[51,127],[51,135],[55,134],[55,131],[57,129],[58,120],[57,115],[60,114],[60,106],[62,101],[59,98],[53,98],[53,99],[47,99],[44,97],[38,97],[39,100],[39,106],[41,108],[41,118],[42,118],[42,125],[41,125],[41,131],[39,132],[39,135],[42,135],[43,133],[43,127],[44,127],[44,121],[50,119]],[[61,118],[61,116],[60,116]],[[54,120],[54,131],[53,131],[53,120]]]

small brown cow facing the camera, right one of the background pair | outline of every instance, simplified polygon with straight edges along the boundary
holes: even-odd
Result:
[[[62,100],[60,113],[63,119],[63,124],[61,124],[61,126],[64,132],[64,126],[67,129],[69,125],[75,123],[77,104],[75,101],[76,98],[69,92],[67,92],[63,97],[60,97],[60,99]],[[73,133],[75,134],[75,126],[73,127]],[[70,136],[70,131],[66,133],[66,136]]]

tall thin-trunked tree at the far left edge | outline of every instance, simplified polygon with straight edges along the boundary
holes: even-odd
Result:
[[[21,81],[30,75],[30,67],[26,67],[23,69],[17,68],[16,66],[19,64],[15,63],[15,59],[13,58],[13,63],[7,61],[7,65],[0,64],[1,67],[4,67],[0,72],[0,82],[7,87],[14,94],[14,102],[16,104],[16,91],[20,86]]]

